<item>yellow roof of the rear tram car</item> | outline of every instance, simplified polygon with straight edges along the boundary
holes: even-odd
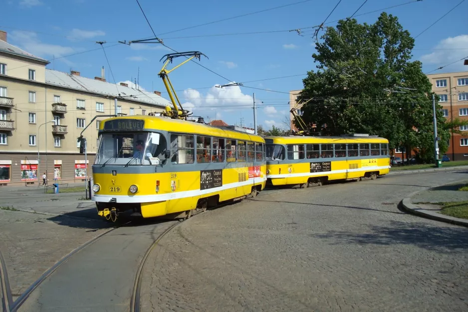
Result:
[[[388,143],[381,137],[368,136],[267,136],[274,144],[307,144],[307,143]]]

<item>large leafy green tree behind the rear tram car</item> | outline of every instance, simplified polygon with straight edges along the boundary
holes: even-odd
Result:
[[[414,39],[383,12],[374,24],[356,19],[327,27],[312,55],[318,63],[303,79],[302,116],[322,135],[369,133],[389,139],[390,148],[420,148],[434,159],[432,86],[419,61],[411,61]],[[440,150],[449,131],[437,105]]]

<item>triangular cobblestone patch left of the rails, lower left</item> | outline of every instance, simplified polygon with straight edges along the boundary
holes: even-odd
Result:
[[[63,256],[108,228],[98,220],[0,210],[0,249],[13,299]]]

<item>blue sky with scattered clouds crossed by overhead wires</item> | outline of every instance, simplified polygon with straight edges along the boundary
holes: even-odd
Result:
[[[228,80],[198,66],[188,63],[170,74],[184,108],[194,108],[195,115],[208,119],[223,119],[229,124],[253,125],[252,93],[255,92],[258,124],[270,128],[282,123],[288,116],[289,90],[302,88],[302,78],[308,70],[315,69],[311,57],[314,51],[312,31],[299,36],[294,31],[258,34],[205,36],[242,32],[263,32],[305,28],[320,24],[338,0],[310,0],[277,9],[267,10],[200,27],[175,31],[206,22],[273,8],[301,0],[179,0],[171,2],[140,0],[156,34],[164,43],[177,51],[198,50],[209,59],[201,64],[228,78],[243,82],[247,87],[215,88]],[[357,15],[402,4],[409,0],[368,0]],[[405,29],[415,36],[461,0],[423,0],[387,9],[398,16]],[[327,21],[351,15],[363,0],[342,0]],[[135,40],[152,36],[143,14],[135,0],[9,0],[6,1],[0,29],[8,32],[8,42],[46,59],[99,48],[95,41],[107,41],[110,46],[119,40]],[[423,70],[431,71],[457,59],[468,56],[468,33],[464,1],[446,17],[416,39],[414,59],[423,61]],[[373,23],[380,11],[357,16],[359,22]],[[329,23],[333,26],[335,23]],[[171,33],[166,33],[171,32]],[[166,34],[164,34],[166,33]],[[160,35],[161,34],[161,35]],[[178,38],[179,37],[179,38]],[[185,37],[185,38],[180,38]],[[159,59],[171,51],[158,44],[118,44],[106,48],[116,82],[126,81],[138,75],[142,88],[163,91],[161,78],[157,76],[162,62]],[[106,69],[107,81],[113,81],[104,53],[101,50],[60,58],[48,65],[69,72],[81,72],[82,76],[100,75]],[[467,66],[465,66],[467,67]],[[435,72],[466,70],[463,61]],[[301,75],[282,79],[248,82],[282,76]],[[200,89],[199,89],[200,88]],[[286,92],[286,93],[281,93]]]

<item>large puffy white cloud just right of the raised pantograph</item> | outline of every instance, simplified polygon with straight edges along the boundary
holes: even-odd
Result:
[[[249,109],[248,105],[253,105],[253,98],[243,94],[239,86],[219,88],[215,85],[206,94],[195,89],[187,89],[184,90],[181,100],[186,101],[182,103],[184,109],[198,112],[213,110],[226,112],[232,111],[236,106]]]

